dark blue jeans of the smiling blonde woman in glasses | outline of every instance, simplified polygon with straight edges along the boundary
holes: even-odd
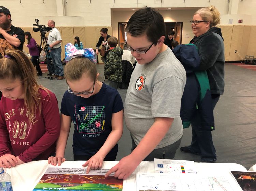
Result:
[[[212,108],[216,106],[220,96],[212,98]],[[191,121],[192,127],[192,140],[189,149],[193,153],[201,154],[201,160],[203,162],[212,161],[217,158],[216,150],[212,141],[211,131],[203,131],[201,128],[201,116],[199,112],[195,114],[195,117]]]

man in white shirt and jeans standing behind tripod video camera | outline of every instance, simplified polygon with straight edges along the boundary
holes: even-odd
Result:
[[[47,23],[48,27],[51,28],[48,36],[47,43],[50,46],[51,52],[51,59],[52,64],[54,65],[55,75],[52,76],[52,78],[56,78],[56,80],[63,80],[64,77],[64,71],[63,71],[63,65],[61,62],[61,36],[60,32],[57,28],[55,28],[55,22],[53,20],[49,20]]]

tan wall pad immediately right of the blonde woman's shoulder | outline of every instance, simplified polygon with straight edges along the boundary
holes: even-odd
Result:
[[[233,25],[221,25],[222,37],[224,39],[225,61],[229,61],[232,31]]]

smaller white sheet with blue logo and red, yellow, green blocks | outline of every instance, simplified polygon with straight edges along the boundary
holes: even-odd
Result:
[[[155,158],[155,172],[160,173],[197,173],[194,161]]]

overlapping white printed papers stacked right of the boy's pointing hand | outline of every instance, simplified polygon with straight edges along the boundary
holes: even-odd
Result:
[[[194,161],[155,159],[155,173],[137,173],[137,191],[233,191],[227,178],[197,173]],[[238,188],[239,190],[239,188]]]

